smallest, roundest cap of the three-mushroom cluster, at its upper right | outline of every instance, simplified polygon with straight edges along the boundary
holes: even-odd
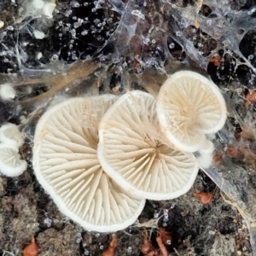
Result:
[[[179,71],[166,79],[157,102],[162,131],[177,148],[188,152],[206,148],[205,134],[220,130],[227,115],[217,85],[192,71]]]

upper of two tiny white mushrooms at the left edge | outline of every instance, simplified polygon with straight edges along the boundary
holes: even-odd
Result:
[[[0,128],[0,142],[19,148],[24,143],[24,137],[17,125],[7,123]]]

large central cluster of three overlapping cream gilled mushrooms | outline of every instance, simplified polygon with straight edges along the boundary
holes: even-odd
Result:
[[[38,121],[34,171],[85,229],[122,230],[145,199],[172,199],[191,188],[199,169],[193,152],[212,154],[206,134],[218,131],[225,115],[217,86],[192,72],[170,76],[157,100],[139,90],[69,99]]]

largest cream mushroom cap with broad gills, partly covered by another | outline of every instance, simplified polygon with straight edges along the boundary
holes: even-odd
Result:
[[[98,232],[125,229],[145,204],[109,178],[97,159],[99,119],[114,100],[95,96],[57,104],[39,119],[34,136],[38,182],[61,212]]]

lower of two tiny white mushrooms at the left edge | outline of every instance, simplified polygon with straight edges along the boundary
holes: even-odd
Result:
[[[0,172],[8,177],[16,177],[26,171],[26,160],[20,160],[18,148],[0,144]]]

